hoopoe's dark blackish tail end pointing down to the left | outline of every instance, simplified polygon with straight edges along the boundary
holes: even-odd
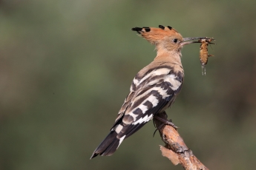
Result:
[[[99,146],[95,149],[90,159],[98,155],[110,156],[111,154],[114,154],[120,143],[120,139],[116,138],[116,136],[116,131],[111,131],[102,141],[102,143],[100,143]]]

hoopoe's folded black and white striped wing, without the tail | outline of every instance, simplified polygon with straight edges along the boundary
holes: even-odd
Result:
[[[167,109],[174,102],[182,86],[182,80],[173,74],[164,75],[155,82],[156,84],[137,89],[127,104],[125,113],[119,115],[114,128],[111,129],[117,133],[117,138],[123,140],[131,136],[155,114]]]

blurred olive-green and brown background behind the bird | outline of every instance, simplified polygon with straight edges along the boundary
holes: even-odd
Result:
[[[89,160],[134,75],[156,56],[131,27],[170,25],[199,44],[167,110],[209,169],[255,169],[256,1],[0,1],[0,169],[183,169],[161,156],[153,123],[111,157]]]

